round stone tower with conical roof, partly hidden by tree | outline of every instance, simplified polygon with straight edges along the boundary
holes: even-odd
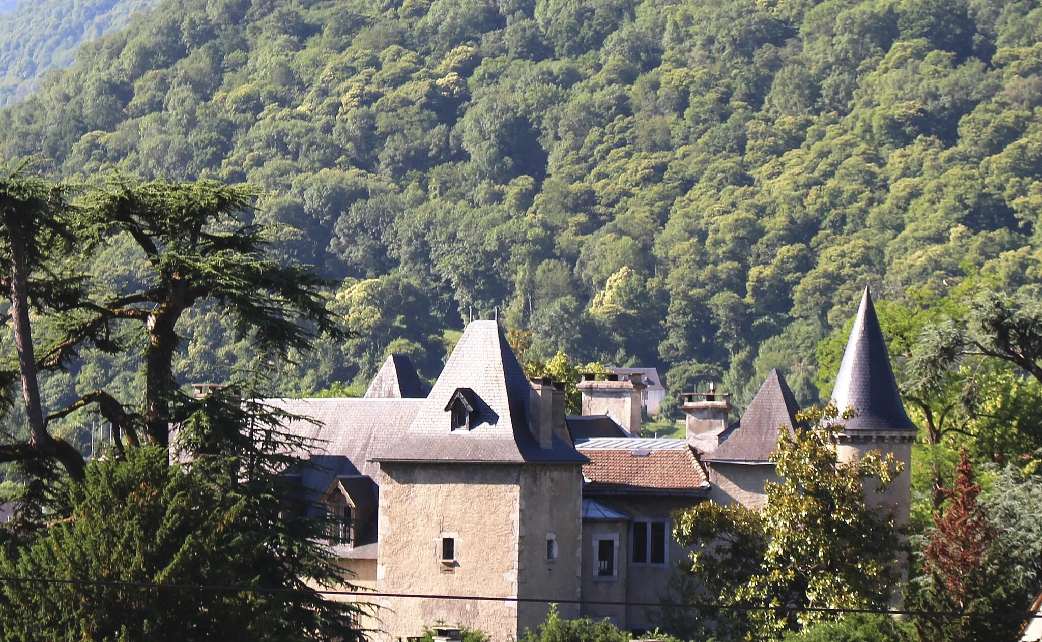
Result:
[[[858,413],[844,423],[840,434],[841,461],[853,461],[870,450],[879,450],[884,454],[894,453],[904,464],[887,492],[869,493],[869,499],[876,505],[895,508],[897,525],[907,525],[912,502],[912,443],[917,428],[904,413],[897,392],[897,380],[868,288],[843,353],[833,400],[840,412],[852,408]]]

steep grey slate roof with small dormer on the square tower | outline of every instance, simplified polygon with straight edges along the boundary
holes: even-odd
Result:
[[[457,389],[473,391],[477,404],[469,430],[452,430],[446,404]],[[381,444],[374,462],[582,463],[585,458],[553,436],[541,448],[528,429],[530,387],[496,321],[472,321],[421,401],[408,428]]]

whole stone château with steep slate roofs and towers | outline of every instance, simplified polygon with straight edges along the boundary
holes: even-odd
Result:
[[[692,393],[687,439],[649,439],[646,380],[585,375],[582,415],[566,416],[563,385],[527,379],[499,325],[473,321],[429,392],[394,354],[363,398],[274,400],[314,419],[288,428],[315,440],[317,466],[300,481],[336,518],[330,545],[348,581],[426,596],[361,596],[377,602],[364,625],[383,640],[443,623],[516,639],[556,602],[562,617],[653,628],[655,610],[631,604],[659,602],[689,552],[672,513],[710,499],[762,505],[779,426],[802,426],[774,370],[738,422],[727,395]],[[843,458],[882,448],[908,464],[915,426],[867,291],[834,396],[859,413]],[[907,521],[909,495],[905,472],[879,500]],[[491,599],[436,597],[461,595]]]

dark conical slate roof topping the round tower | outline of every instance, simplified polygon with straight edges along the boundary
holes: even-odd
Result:
[[[868,288],[861,298],[861,307],[836,376],[833,400],[841,412],[848,406],[858,412],[857,417],[846,422],[848,429],[916,429],[897,392],[897,379],[890,367],[887,343]]]

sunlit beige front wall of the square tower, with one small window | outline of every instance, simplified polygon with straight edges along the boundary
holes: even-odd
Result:
[[[518,595],[521,466],[383,463],[377,589],[386,593]],[[441,539],[456,563],[441,562]],[[379,639],[417,637],[438,621],[518,634],[514,601],[380,600]]]

